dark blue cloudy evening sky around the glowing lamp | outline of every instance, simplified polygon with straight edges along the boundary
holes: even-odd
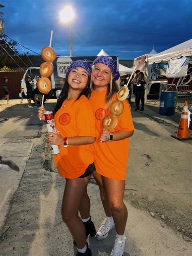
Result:
[[[69,55],[69,28],[59,19],[65,5],[75,10],[74,56],[95,56],[103,48],[127,60],[149,53],[153,45],[162,52],[192,38],[192,0],[0,0],[0,4],[5,6],[4,33],[37,53],[49,45],[52,29],[56,54]]]

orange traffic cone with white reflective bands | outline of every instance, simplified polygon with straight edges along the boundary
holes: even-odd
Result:
[[[179,127],[177,129],[176,136],[172,136],[177,139],[187,139],[188,138],[188,102],[185,102],[183,107],[183,112],[181,114],[181,119],[179,122]]]

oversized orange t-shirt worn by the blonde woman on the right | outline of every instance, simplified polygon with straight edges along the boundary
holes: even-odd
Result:
[[[107,108],[105,103],[106,95],[107,89],[101,93],[92,92],[89,99],[90,104],[94,110],[96,123],[96,142],[92,144],[94,148],[94,163],[96,172],[107,178],[125,180],[128,161],[129,138],[100,143],[100,135],[103,129],[102,119],[110,114],[110,110]],[[117,100],[116,93],[113,95],[111,102],[114,100]],[[129,104],[127,100],[124,100],[123,103],[124,112],[122,116],[117,117],[118,124],[113,130],[110,131],[111,133],[119,130],[134,130]]]

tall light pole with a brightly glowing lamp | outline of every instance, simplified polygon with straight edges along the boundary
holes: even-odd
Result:
[[[70,56],[72,56],[72,40],[71,40],[71,21],[75,16],[71,6],[65,6],[65,8],[60,11],[60,20],[64,23],[69,22],[69,45],[70,45]]]

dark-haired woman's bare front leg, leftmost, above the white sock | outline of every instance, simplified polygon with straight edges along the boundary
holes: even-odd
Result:
[[[66,179],[62,202],[62,217],[79,249],[86,245],[85,226],[78,216],[78,210],[85,194],[90,176]]]

